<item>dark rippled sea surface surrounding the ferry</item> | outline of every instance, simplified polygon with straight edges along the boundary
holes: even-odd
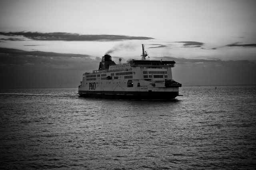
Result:
[[[256,86],[184,86],[172,101],[0,89],[0,169],[256,168]]]

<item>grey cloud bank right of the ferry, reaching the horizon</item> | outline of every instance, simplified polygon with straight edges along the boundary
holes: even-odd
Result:
[[[182,85],[256,84],[256,63],[252,61],[162,58],[176,62],[172,76]]]

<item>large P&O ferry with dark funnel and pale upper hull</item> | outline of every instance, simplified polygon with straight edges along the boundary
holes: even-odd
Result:
[[[102,57],[98,70],[85,72],[78,94],[89,98],[125,100],[171,100],[181,84],[172,79],[174,61],[150,61],[142,44],[141,59],[116,64],[110,55]]]

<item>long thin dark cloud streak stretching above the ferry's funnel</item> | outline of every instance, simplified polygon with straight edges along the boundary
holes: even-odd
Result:
[[[53,32],[53,33],[40,33],[40,32],[0,32],[0,35],[10,37],[26,37],[31,40],[38,41],[125,41],[125,40],[148,40],[154,39],[151,37],[134,37],[127,35],[80,35],[78,33],[66,32]],[[22,41],[21,38],[4,39],[10,41]]]

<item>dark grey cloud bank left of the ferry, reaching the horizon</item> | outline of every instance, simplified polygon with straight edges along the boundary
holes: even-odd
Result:
[[[94,58],[94,59],[92,59]],[[0,48],[0,88],[77,87],[100,57]]]

